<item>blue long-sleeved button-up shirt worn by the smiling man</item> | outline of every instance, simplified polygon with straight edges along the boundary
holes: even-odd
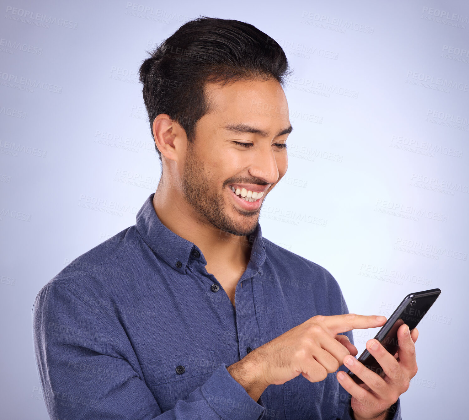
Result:
[[[227,371],[315,315],[348,313],[333,276],[257,224],[234,307],[197,245],[161,223],[153,195],[134,226],[38,293],[34,349],[51,419],[351,420],[335,373],[269,385],[256,402]],[[400,400],[392,411],[401,420]]]

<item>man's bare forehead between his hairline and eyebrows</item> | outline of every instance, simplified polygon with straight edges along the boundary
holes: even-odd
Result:
[[[277,80],[238,80],[225,86],[209,83],[205,94],[212,104],[207,117],[220,125],[234,121],[275,128],[289,125],[287,98]]]

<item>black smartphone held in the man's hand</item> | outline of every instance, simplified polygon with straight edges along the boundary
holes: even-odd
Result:
[[[397,342],[397,330],[402,324],[407,324],[410,331],[412,331],[420,320],[424,317],[425,313],[430,309],[431,305],[437,300],[441,290],[430,289],[421,292],[408,294],[396,308],[392,315],[388,318],[383,327],[378,331],[375,340],[378,340],[383,347],[389,351],[393,356],[399,348]],[[376,372],[379,376],[384,377],[386,374],[376,359],[371,356],[371,353],[365,348],[363,353],[358,358],[365,367]],[[348,375],[357,383],[361,384],[363,381],[349,370]]]

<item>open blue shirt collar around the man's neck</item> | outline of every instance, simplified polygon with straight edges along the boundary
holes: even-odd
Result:
[[[197,245],[175,234],[159,220],[153,207],[154,195],[154,192],[150,194],[136,215],[136,228],[144,242],[157,256],[181,273],[186,273],[186,266],[190,258],[201,260],[204,265],[207,264],[204,254]],[[262,274],[262,265],[265,261],[265,243],[262,239],[259,223],[249,239],[252,244],[250,263],[254,265],[255,271]]]

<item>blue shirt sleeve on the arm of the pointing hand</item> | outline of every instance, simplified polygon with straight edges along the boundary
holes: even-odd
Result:
[[[139,372],[135,354],[126,357],[121,341],[125,337],[81,296],[70,283],[51,283],[33,305],[36,364],[51,420],[258,420],[264,416],[262,397],[254,401],[225,363],[186,400],[162,413]]]

